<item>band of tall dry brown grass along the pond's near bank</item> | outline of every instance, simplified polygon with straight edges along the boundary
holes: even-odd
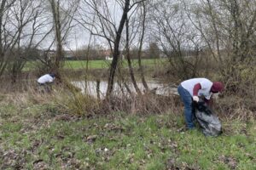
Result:
[[[244,67],[241,67],[244,68]],[[242,70],[241,91],[248,89],[247,93],[228,94],[218,100],[215,111],[218,116],[241,120],[255,118],[256,95],[253,88],[254,76],[249,70]],[[215,79],[218,76],[215,75]],[[128,114],[160,114],[166,111],[182,113],[183,105],[178,96],[160,96],[156,94],[143,94],[128,96],[113,93],[109,101],[96,99],[93,96],[81,94],[78,88],[73,87],[69,81],[55,86],[51,93],[39,93],[34,77],[32,81],[19,80],[15,84],[8,81],[0,83],[0,100],[2,103],[26,105],[26,103],[46,104],[50,102],[58,105],[64,112],[78,115],[110,114],[113,112],[125,112]],[[247,82],[249,83],[247,83]],[[254,94],[253,94],[254,90]],[[243,95],[242,95],[243,94]]]

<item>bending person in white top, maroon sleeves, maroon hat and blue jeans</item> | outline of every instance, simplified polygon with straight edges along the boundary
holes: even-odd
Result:
[[[222,92],[223,89],[222,82],[211,82],[207,78],[192,78],[180,83],[177,92],[183,100],[185,120],[189,129],[195,127],[192,102],[198,102],[199,98],[203,98],[209,103],[212,94]]]

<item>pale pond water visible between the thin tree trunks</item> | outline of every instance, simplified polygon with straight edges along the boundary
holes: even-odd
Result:
[[[72,84],[82,90],[82,93],[85,93],[85,87],[86,88],[86,93],[93,95],[96,97],[96,82],[95,81],[77,81],[77,82],[72,82]],[[135,88],[133,87],[132,83],[127,84],[129,88],[131,89],[132,92],[135,92]],[[143,83],[142,82],[137,82],[138,88],[140,88],[143,91]],[[105,96],[108,88],[108,82],[100,82],[100,96],[101,98]],[[155,90],[155,94],[160,94],[160,95],[171,95],[171,94],[177,94],[177,88],[170,87],[170,85],[166,83],[160,83],[160,82],[148,82],[148,88],[150,90]],[[119,86],[118,83],[113,84],[113,90],[117,94],[125,93],[128,94],[126,91],[126,88],[124,85]]]

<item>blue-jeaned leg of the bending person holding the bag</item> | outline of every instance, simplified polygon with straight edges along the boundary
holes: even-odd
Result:
[[[195,125],[193,123],[193,111],[192,111],[193,108],[192,108],[192,98],[191,98],[191,95],[181,85],[178,86],[177,92],[180,95],[181,99],[183,100],[185,120],[186,120],[186,123],[187,123],[187,127],[189,129],[194,128]]]

